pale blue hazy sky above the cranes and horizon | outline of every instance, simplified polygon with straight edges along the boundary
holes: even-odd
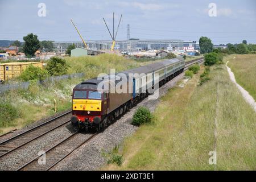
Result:
[[[46,5],[46,16],[42,6]],[[210,6],[216,5],[216,11]],[[209,16],[216,15],[216,16]],[[32,32],[39,40],[81,41],[70,19],[86,40],[111,40],[102,18],[113,32],[123,15],[117,40],[180,39],[214,44],[256,43],[256,1],[171,0],[0,0],[0,40],[20,40]],[[216,14],[214,14],[216,13]]]

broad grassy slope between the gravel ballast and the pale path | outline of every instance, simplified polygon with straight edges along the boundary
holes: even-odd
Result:
[[[210,80],[197,86],[202,72],[184,88],[169,90],[155,110],[154,123],[125,139],[121,167],[103,169],[214,170],[208,154],[216,144],[217,170],[255,170],[254,110],[230,81],[225,65],[211,67]]]

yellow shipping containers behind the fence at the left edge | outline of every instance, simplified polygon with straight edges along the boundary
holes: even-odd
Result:
[[[20,76],[29,66],[39,67],[43,69],[43,62],[26,62],[26,63],[2,63],[0,64],[0,81],[6,81],[11,78]]]

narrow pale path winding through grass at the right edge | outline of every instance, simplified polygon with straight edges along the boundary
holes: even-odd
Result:
[[[237,82],[236,82],[236,78],[234,76],[234,73],[231,71],[231,69],[228,67],[228,63],[229,61],[226,63],[226,68],[228,69],[228,72],[229,72],[229,77],[230,77],[230,80],[232,82],[234,82],[234,84],[236,84],[237,88],[240,90],[240,92],[242,93],[242,96],[243,98],[245,98],[246,102],[249,103],[254,111],[256,112],[256,102],[254,101],[254,98],[251,97],[251,95],[249,94],[249,92],[247,92],[245,89],[242,88],[241,85],[239,85]]]

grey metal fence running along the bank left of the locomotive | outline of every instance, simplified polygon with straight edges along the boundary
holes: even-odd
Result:
[[[38,84],[47,84],[47,83],[53,84],[59,80],[65,80],[68,78],[81,78],[81,77],[84,77],[84,73],[75,73],[75,74],[71,74],[71,75],[62,75],[62,76],[52,76],[52,77],[48,77],[46,80],[38,81]],[[3,85],[0,85],[0,94],[7,92],[9,90],[17,90],[17,89],[27,90],[28,86],[30,86],[29,81],[20,82],[17,84],[3,84]]]

